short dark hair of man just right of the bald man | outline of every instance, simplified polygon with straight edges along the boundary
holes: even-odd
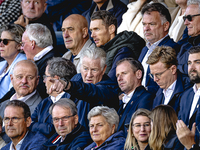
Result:
[[[109,11],[99,10],[92,14],[91,20],[101,19],[102,23],[109,27],[110,25],[115,26],[115,34],[117,34],[117,18]]]

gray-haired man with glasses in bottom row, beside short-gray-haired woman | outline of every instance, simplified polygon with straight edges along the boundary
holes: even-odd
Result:
[[[45,144],[51,150],[83,149],[92,142],[90,134],[79,124],[76,104],[67,98],[55,102],[49,109],[56,132]]]

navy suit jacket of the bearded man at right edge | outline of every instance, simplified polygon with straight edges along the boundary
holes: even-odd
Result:
[[[180,111],[178,113],[178,119],[183,120],[183,122],[186,125],[189,125],[190,128],[191,128],[192,124],[195,122],[197,110],[198,110],[198,107],[200,104],[200,100],[199,100],[195,107],[192,117],[189,119],[194,95],[195,94],[194,94],[193,87],[191,87],[191,88],[187,89],[185,92],[183,92],[180,96]]]

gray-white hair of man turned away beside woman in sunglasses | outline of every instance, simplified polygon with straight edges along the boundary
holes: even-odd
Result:
[[[35,41],[36,45],[46,48],[53,44],[50,30],[40,23],[32,23],[26,26],[26,33],[31,41]]]

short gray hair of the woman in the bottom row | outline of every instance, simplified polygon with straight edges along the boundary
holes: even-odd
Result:
[[[87,118],[90,121],[92,117],[100,115],[106,119],[106,122],[108,122],[110,127],[115,125],[116,132],[119,124],[119,116],[116,110],[107,106],[96,106],[89,111]]]

